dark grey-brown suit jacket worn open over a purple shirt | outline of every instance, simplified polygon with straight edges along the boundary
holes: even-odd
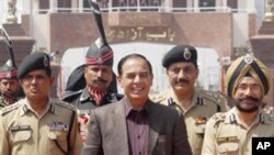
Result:
[[[82,155],[129,155],[126,118],[121,101],[92,110]],[[148,101],[149,135],[147,155],[191,155],[181,112]]]

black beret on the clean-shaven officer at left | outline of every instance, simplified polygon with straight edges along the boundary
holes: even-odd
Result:
[[[48,75],[52,75],[50,60],[47,54],[28,54],[19,66],[18,78],[22,79],[27,73],[36,69],[44,69]]]

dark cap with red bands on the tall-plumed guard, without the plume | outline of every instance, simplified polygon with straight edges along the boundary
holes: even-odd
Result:
[[[107,44],[103,44],[99,37],[88,49],[87,65],[113,65],[113,51]]]

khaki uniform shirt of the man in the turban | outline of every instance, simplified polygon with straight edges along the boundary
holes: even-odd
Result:
[[[252,125],[242,125],[237,108],[216,113],[206,124],[203,155],[251,155],[252,137],[273,137],[274,122],[260,111]]]

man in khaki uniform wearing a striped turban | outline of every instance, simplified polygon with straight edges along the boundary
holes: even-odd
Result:
[[[271,87],[269,69],[250,54],[241,56],[228,68],[226,86],[235,107],[207,122],[202,154],[251,155],[253,136],[274,136],[273,119],[262,111]]]

